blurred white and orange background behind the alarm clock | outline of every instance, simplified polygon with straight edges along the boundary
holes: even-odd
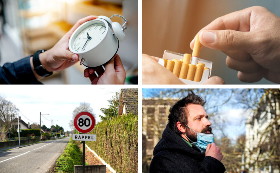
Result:
[[[113,14],[127,19],[125,40],[118,54],[125,67],[125,84],[138,84],[138,0],[0,0],[0,65],[50,49],[81,18]],[[119,17],[113,22],[124,21]],[[76,63],[40,80],[44,84],[90,84]]]

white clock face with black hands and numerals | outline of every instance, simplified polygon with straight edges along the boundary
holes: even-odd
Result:
[[[80,33],[75,38],[75,52],[83,53],[87,50],[91,50],[103,40],[105,35],[106,27],[103,23],[92,24],[84,29],[81,29]]]

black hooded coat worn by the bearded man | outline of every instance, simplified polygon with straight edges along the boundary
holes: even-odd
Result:
[[[225,172],[223,163],[191,147],[167,124],[162,139],[154,149],[150,173],[156,172]]]

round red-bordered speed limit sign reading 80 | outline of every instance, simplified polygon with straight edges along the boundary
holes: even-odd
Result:
[[[80,133],[89,133],[95,126],[95,118],[90,112],[80,112],[74,118],[74,127]]]

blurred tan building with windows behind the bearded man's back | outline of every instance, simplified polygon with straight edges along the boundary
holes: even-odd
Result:
[[[179,98],[142,99],[142,169],[148,172],[153,150],[168,122],[169,109]]]

